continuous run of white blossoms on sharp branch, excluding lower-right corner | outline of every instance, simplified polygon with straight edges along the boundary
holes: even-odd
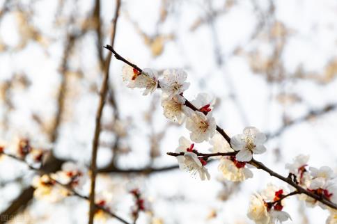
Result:
[[[237,182],[253,177],[248,162],[253,158],[253,154],[266,151],[263,145],[267,140],[265,134],[255,127],[246,127],[243,134],[230,139],[230,147],[223,136],[216,135],[217,124],[212,116],[214,99],[207,93],[199,93],[196,99],[189,103],[192,106],[187,105],[187,99],[183,97],[184,91],[189,88],[189,83],[186,82],[187,73],[183,70],[165,70],[162,77],[159,80],[154,70],[144,69],[140,72],[130,65],[123,67],[123,80],[127,87],[146,88],[145,94],[152,93],[156,88],[162,89],[164,116],[179,124],[186,120],[191,141],[210,141],[213,145],[212,152],[237,152],[233,156],[217,157],[220,159],[219,170],[226,179]],[[210,174],[205,168],[208,157],[198,156],[198,151],[193,149],[194,143],[185,137],[180,138],[179,147],[175,150],[179,154],[179,166],[194,176],[198,173],[202,180],[210,179]]]

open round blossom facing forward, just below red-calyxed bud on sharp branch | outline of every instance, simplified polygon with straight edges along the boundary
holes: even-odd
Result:
[[[207,113],[207,115],[205,115],[199,111],[194,111],[194,113],[187,118],[186,128],[191,131],[191,141],[201,143],[203,141],[208,141],[208,139],[214,136],[217,124],[212,117],[212,113]]]

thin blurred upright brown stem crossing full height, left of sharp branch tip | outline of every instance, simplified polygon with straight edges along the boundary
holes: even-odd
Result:
[[[116,10],[115,10],[115,17],[113,18],[113,29],[111,32],[111,45],[113,46],[116,37],[116,28],[117,28],[117,21],[120,9],[120,0],[116,0]],[[97,175],[97,150],[100,141],[100,122],[102,118],[102,111],[104,108],[104,102],[107,97],[107,90],[108,90],[108,82],[109,82],[109,68],[110,68],[110,61],[111,61],[111,53],[107,56],[107,65],[104,67],[105,74],[102,82],[102,86],[100,89],[100,102],[98,104],[96,118],[95,118],[95,134],[93,138],[93,149],[91,154],[91,192],[90,192],[90,210],[89,210],[89,224],[93,224],[93,218],[95,214],[95,184],[96,184],[96,175]]]

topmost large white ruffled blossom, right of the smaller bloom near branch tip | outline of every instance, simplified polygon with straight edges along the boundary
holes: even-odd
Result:
[[[160,87],[163,97],[167,99],[172,99],[174,95],[180,95],[189,88],[189,83],[185,82],[187,73],[184,70],[165,70],[163,76]]]

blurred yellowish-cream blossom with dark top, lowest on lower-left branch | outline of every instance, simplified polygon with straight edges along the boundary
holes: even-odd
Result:
[[[34,196],[39,200],[57,202],[70,194],[67,189],[56,184],[55,180],[48,175],[34,177],[31,185],[36,189]]]

